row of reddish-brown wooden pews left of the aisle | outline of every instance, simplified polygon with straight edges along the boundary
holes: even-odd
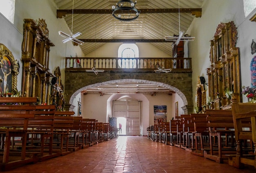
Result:
[[[117,137],[95,119],[36,105],[32,97],[0,98],[0,171],[66,155]]]

